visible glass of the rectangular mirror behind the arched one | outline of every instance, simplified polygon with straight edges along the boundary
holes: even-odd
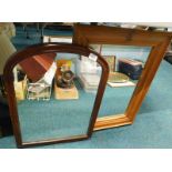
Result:
[[[110,75],[99,117],[123,114],[142,74],[151,47],[90,44],[109,63]]]

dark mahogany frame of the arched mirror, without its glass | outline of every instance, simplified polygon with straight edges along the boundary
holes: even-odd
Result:
[[[74,54],[80,54],[80,55],[85,55],[85,57],[88,57],[90,53],[93,53],[98,57],[97,62],[102,67],[102,73],[101,73],[101,79],[100,79],[98,92],[97,92],[95,100],[94,100],[94,105],[93,105],[92,113],[90,117],[90,123],[88,127],[88,131],[85,134],[78,135],[78,136],[43,140],[43,141],[36,141],[36,142],[23,142],[21,129],[20,129],[20,121],[18,117],[12,70],[19,62],[21,62],[22,60],[26,60],[27,58],[30,58],[36,54],[52,53],[52,52],[74,53]],[[28,47],[12,54],[6,63],[4,71],[3,71],[3,80],[4,80],[4,87],[7,91],[7,98],[8,98],[9,108],[10,108],[10,117],[11,117],[11,121],[13,125],[13,132],[14,132],[17,146],[26,148],[26,146],[33,146],[33,145],[40,145],[40,144],[44,145],[44,144],[51,144],[51,143],[79,141],[79,140],[84,140],[84,139],[90,138],[93,131],[93,127],[97,120],[101,100],[104,93],[108,75],[109,75],[109,67],[105,60],[99,53],[94,52],[93,50],[81,47],[81,45],[77,45],[77,44],[68,44],[68,43],[36,44],[36,45]]]

